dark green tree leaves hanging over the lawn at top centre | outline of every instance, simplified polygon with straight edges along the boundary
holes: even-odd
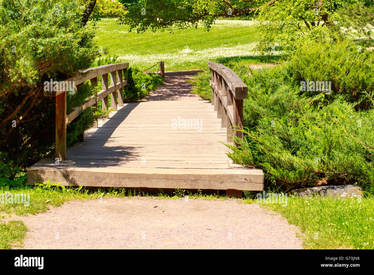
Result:
[[[174,28],[180,30],[189,27],[197,28],[199,21],[204,25],[205,30],[209,31],[218,17],[254,14],[267,2],[267,0],[139,0],[128,7],[129,12],[121,21],[130,26],[130,31],[135,28],[138,33],[144,33],[148,28],[152,31],[168,30],[172,33]]]

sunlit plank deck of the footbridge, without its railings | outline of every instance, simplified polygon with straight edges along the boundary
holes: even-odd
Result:
[[[189,85],[167,97],[176,85],[168,74],[165,80],[147,101],[119,107],[86,132],[84,142],[67,149],[66,161],[43,158],[31,166],[28,184],[263,190],[261,169],[229,163],[229,149],[219,142],[226,128],[211,103],[189,94]],[[184,129],[183,119],[199,123]]]

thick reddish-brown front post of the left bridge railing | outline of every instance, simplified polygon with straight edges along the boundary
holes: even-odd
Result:
[[[66,92],[56,95],[56,158],[66,159]]]

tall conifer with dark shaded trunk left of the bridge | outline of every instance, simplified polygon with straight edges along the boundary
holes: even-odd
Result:
[[[24,170],[53,150],[55,98],[43,83],[74,76],[99,55],[84,10],[80,0],[1,0],[1,164]]]

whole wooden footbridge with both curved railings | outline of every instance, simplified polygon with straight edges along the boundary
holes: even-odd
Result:
[[[191,72],[166,72],[164,85],[145,100],[123,103],[128,63],[110,64],[82,72],[59,83],[56,97],[56,156],[28,168],[28,184],[50,180],[65,186],[147,187],[226,190],[241,197],[242,190],[263,190],[261,169],[232,164],[228,147],[242,132],[243,99],[247,87],[229,68],[209,62],[212,102],[190,94],[184,81]],[[88,103],[66,113],[67,85],[89,80],[102,90]],[[66,148],[66,125],[83,110],[102,101],[113,111],[109,118],[84,134],[84,141]]]

